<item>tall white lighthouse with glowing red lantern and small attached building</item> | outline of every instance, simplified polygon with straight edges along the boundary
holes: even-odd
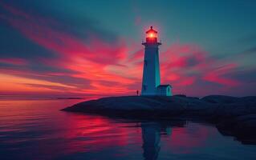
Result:
[[[160,65],[159,65],[159,46],[157,42],[157,31],[152,26],[146,31],[146,42],[144,45],[144,66],[141,95],[172,95],[172,86],[161,85]]]

